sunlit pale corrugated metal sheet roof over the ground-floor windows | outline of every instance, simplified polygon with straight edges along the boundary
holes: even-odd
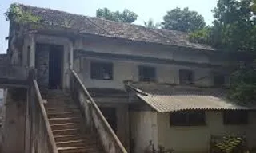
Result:
[[[174,95],[174,96],[137,96],[158,112],[182,110],[252,110],[255,108],[231,104],[215,96]]]

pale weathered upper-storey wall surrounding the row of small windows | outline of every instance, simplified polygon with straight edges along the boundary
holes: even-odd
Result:
[[[113,80],[92,80],[90,79],[90,62],[91,61],[106,61],[113,63]],[[82,62],[82,63],[81,63]],[[159,83],[179,83],[179,69],[191,69],[194,71],[195,80],[198,85],[211,85],[213,82],[210,76],[210,69],[188,67],[182,65],[164,65],[145,63],[138,61],[114,61],[92,57],[80,57],[74,60],[74,69],[79,73],[86,88],[118,88],[124,89],[124,80],[138,81],[138,65],[153,66],[156,68],[157,80]]]

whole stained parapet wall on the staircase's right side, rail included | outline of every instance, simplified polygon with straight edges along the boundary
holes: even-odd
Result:
[[[83,110],[86,129],[91,129],[91,131],[98,133],[102,147],[107,153],[127,153],[118,136],[115,135],[110,124],[108,124],[106,118],[102,115],[97,104],[90,96],[90,93],[84,84],[82,84],[82,80],[79,79],[77,73],[72,71],[70,80],[70,84],[72,84],[70,89],[73,98]]]

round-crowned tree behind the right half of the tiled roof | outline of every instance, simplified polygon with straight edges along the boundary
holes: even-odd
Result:
[[[206,26],[202,15],[196,11],[189,10],[188,7],[183,10],[177,7],[174,10],[168,11],[163,20],[163,29],[174,29],[183,32],[191,32]]]

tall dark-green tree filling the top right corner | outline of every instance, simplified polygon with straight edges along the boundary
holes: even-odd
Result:
[[[219,0],[214,8],[214,41],[228,51],[254,50],[255,23],[251,0]]]

